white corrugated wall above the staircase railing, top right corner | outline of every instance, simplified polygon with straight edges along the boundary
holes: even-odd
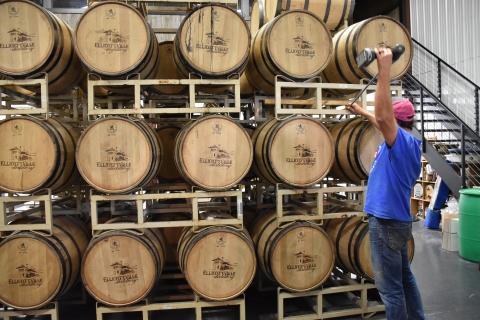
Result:
[[[412,38],[480,85],[480,1],[410,0]]]

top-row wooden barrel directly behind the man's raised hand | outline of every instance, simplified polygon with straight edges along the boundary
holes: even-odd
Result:
[[[378,73],[377,63],[373,62],[360,69],[356,62],[357,56],[365,48],[393,48],[398,43],[405,46],[405,53],[392,65],[392,79],[405,74],[412,63],[413,44],[408,30],[387,16],[377,16],[352,24],[333,37],[333,58],[320,76],[323,82],[328,83],[358,84],[362,79],[371,79]],[[349,93],[333,89],[329,89],[329,92],[338,96]]]

